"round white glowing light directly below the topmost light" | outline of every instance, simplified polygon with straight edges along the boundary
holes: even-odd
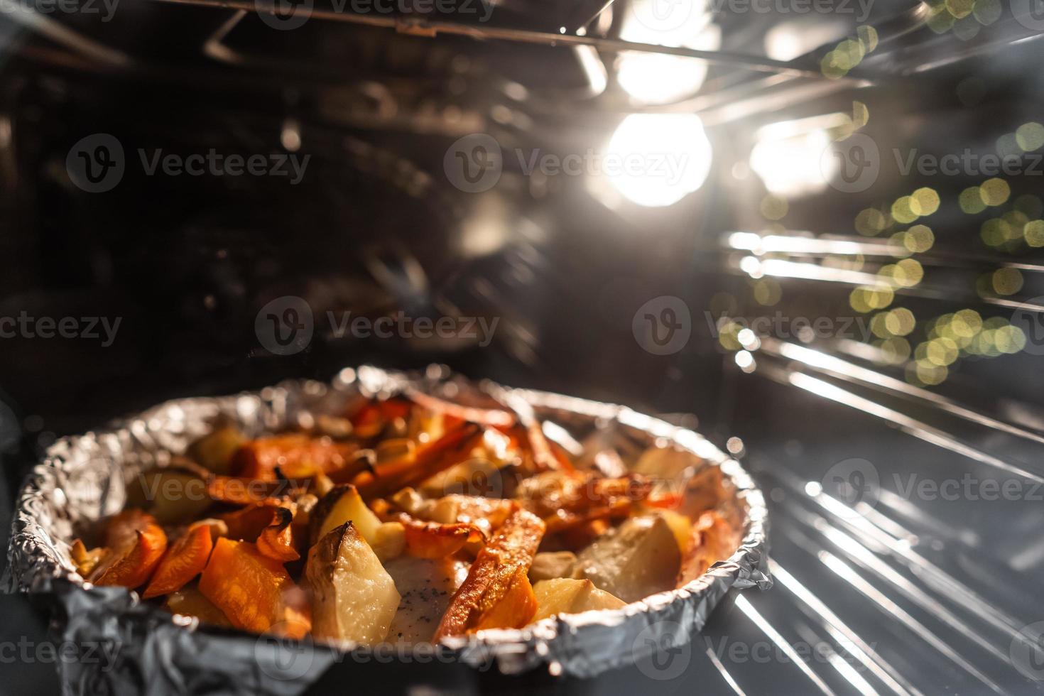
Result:
[[[626,165],[607,171],[610,181],[639,206],[678,202],[704,185],[711,168],[711,143],[694,114],[632,114],[608,151]]]

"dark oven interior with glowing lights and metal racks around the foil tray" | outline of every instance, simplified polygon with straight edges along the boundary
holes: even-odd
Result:
[[[1041,691],[1037,2],[685,0],[665,28],[638,0],[309,2],[293,27],[300,6],[4,0],[0,315],[121,323],[0,340],[2,504],[56,436],[167,398],[446,363],[695,425],[769,500],[776,586],[730,596],[663,680],[408,683]],[[70,176],[92,134],[124,151],[103,193]],[[475,134],[501,149],[479,192],[450,174]],[[830,151],[858,138],[869,185],[864,151]],[[610,175],[614,147],[702,177]],[[309,160],[292,184],[147,170],[210,150]],[[569,155],[582,172],[548,169]],[[286,296],[314,336],[278,355],[256,319]],[[649,350],[643,307],[684,344]],[[497,325],[355,336],[327,320],[347,313]]]

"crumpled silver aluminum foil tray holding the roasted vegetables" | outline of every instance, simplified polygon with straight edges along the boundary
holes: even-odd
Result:
[[[88,661],[64,663],[66,692],[298,694],[331,665],[343,661],[346,653],[330,646],[258,638],[199,625],[194,619],[185,623],[183,618],[142,603],[136,593],[85,586],[69,557],[69,545],[79,527],[121,509],[127,477],[152,464],[162,465],[169,453],[184,452],[218,416],[233,418],[248,436],[257,436],[307,424],[312,414],[333,412],[360,392],[387,398],[406,388],[445,395],[473,387],[438,366],[417,375],[371,366],[346,368],[330,383],[290,381],[259,392],[167,402],[50,447],[18,500],[7,584],[56,604],[54,625],[63,641],[118,648],[112,651],[115,664],[105,669]],[[772,585],[762,494],[737,461],[707,439],[621,406],[521,389],[504,393],[527,403],[542,421],[567,429],[580,425],[621,428],[649,445],[673,443],[702,457],[705,465],[719,466],[734,496],[742,542],[728,560],[684,587],[620,609],[550,618],[519,630],[446,639],[427,646],[432,652],[429,659],[478,669],[495,666],[503,674],[544,666],[551,674],[594,676],[688,643],[730,587]],[[389,662],[397,648],[404,649],[393,645],[386,651]],[[377,649],[359,648],[349,654]]]

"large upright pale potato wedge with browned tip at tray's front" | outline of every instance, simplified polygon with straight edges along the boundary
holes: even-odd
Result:
[[[351,522],[327,532],[308,552],[305,584],[312,593],[312,635],[327,641],[380,643],[401,600]]]

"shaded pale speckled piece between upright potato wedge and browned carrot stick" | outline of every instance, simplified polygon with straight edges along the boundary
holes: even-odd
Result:
[[[468,577],[468,563],[453,558],[402,556],[385,569],[402,597],[388,641],[430,642],[453,594]]]

